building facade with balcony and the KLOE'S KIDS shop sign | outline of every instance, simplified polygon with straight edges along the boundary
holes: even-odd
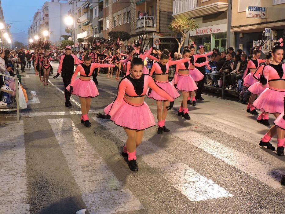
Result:
[[[203,45],[206,52],[213,48],[225,51],[228,38],[234,47],[233,33],[227,35],[228,0],[175,0],[172,16],[194,19],[199,24],[197,30],[188,32],[185,45],[195,42],[196,47]]]

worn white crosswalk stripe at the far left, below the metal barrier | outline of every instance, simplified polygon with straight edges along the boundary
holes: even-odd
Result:
[[[23,124],[20,121],[1,127],[0,213],[30,213]]]

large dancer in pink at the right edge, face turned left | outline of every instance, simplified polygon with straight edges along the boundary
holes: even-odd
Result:
[[[276,118],[283,113],[283,99],[285,96],[285,64],[280,64],[283,59],[283,47],[280,42],[275,42],[272,48],[272,62],[266,65],[263,70],[264,77],[261,76],[261,83],[266,88],[252,105],[263,112],[273,114]],[[278,120],[277,120],[278,121]],[[268,149],[275,150],[269,143],[271,138],[277,133],[277,155],[284,156],[284,135],[285,130],[276,125],[261,138],[260,146],[267,146]]]

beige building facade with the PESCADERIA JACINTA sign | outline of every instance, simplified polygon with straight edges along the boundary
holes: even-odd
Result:
[[[284,14],[285,0],[233,1],[231,31],[235,34],[236,49],[243,49],[249,54],[249,49],[257,46],[258,40],[262,40],[262,35],[265,36],[265,28],[271,28],[263,52],[271,50],[273,41],[283,35]]]

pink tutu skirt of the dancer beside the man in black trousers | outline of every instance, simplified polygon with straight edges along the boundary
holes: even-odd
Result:
[[[70,85],[66,87],[66,90],[69,91],[69,89]],[[84,81],[78,78],[73,83],[73,92],[71,94],[84,98],[93,98],[97,97],[99,92],[92,79]]]

